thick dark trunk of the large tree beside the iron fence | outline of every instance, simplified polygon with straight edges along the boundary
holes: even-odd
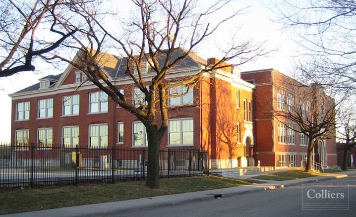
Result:
[[[148,140],[148,158],[147,158],[147,180],[146,186],[149,188],[159,188],[160,174],[160,145],[162,138],[159,137],[155,129],[146,127]],[[154,128],[154,127],[152,127]]]

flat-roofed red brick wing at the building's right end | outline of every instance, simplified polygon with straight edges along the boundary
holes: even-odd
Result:
[[[290,80],[294,80],[274,69],[246,71],[241,78],[255,84],[255,155],[263,166],[304,166],[307,152],[307,138],[291,128],[298,130],[295,122],[280,121],[273,115],[276,109],[284,109],[280,90],[288,89]],[[295,81],[295,80],[294,80]],[[292,96],[293,98],[293,96]],[[292,104],[292,103],[291,103]],[[310,109],[306,109],[309,110]],[[286,127],[282,122],[288,122]],[[336,165],[335,132],[330,139],[320,140],[314,147],[313,159],[323,166]]]

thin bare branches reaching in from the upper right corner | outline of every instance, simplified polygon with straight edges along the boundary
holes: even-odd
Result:
[[[356,2],[281,0],[277,22],[303,48],[299,69],[316,83],[356,92]]]

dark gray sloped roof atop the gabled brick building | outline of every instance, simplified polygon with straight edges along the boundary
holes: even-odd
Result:
[[[171,62],[174,61],[178,56],[181,56],[183,54],[184,50],[181,48],[178,48],[172,55],[171,58]],[[129,76],[128,73],[126,72],[127,69],[127,57],[119,57],[119,56],[114,56],[115,59],[117,59],[117,63],[115,68],[112,67],[108,67],[108,66],[103,66],[104,70],[106,72],[108,72],[110,74],[111,77],[113,78],[118,78],[118,77],[126,77]],[[158,62],[163,64],[163,62],[165,61],[165,53],[162,53],[162,55],[160,55],[158,57]],[[199,56],[197,56],[194,53],[190,53],[188,54],[184,59],[181,59],[178,61],[178,64],[175,66],[175,68],[185,68],[185,67],[193,67],[193,66],[200,66],[200,65],[206,65],[207,61]],[[60,73],[58,75],[48,75],[45,76],[39,80],[45,80],[45,79],[51,79],[51,80],[59,80],[60,77],[63,75],[64,73]],[[51,85],[50,87],[53,87],[53,85]],[[34,91],[34,90],[38,90],[40,88],[40,83],[34,84],[32,86],[26,87],[20,91],[15,92],[16,93],[23,93],[23,92],[28,92],[28,91]]]

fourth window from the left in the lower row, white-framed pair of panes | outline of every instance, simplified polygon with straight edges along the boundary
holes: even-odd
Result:
[[[108,148],[108,124],[89,125],[89,148]]]

